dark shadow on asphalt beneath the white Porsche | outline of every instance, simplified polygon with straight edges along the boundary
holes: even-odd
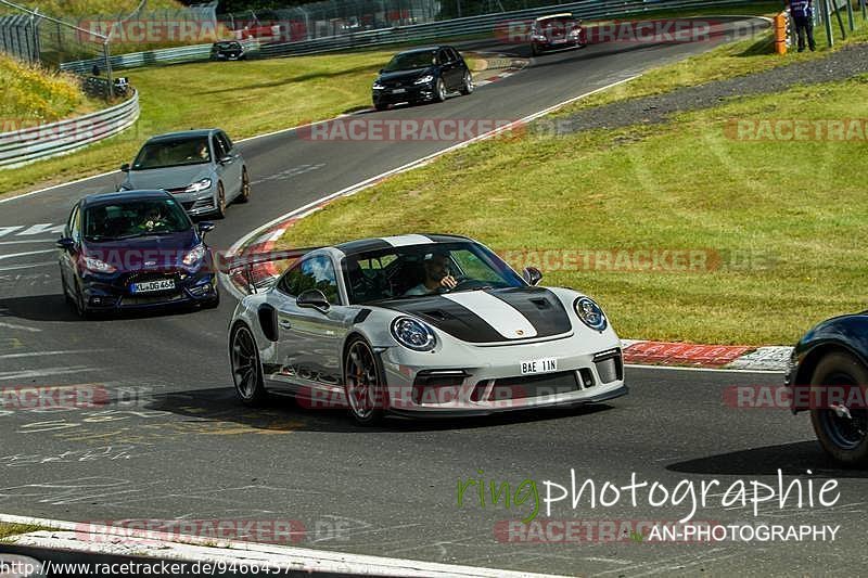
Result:
[[[238,400],[232,388],[227,387],[154,395],[145,401],[143,408],[146,410],[165,411],[195,420],[231,422],[254,429],[394,434],[508,426],[579,418],[614,409],[607,403],[596,403],[460,419],[410,420],[390,416],[380,425],[363,427],[356,425],[344,409],[308,409],[289,396],[270,394],[261,408],[248,408]]]

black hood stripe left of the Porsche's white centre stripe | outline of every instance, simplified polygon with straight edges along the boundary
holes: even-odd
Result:
[[[445,299],[439,295],[380,301],[376,305],[418,317],[462,342],[497,343],[510,341],[467,307]]]

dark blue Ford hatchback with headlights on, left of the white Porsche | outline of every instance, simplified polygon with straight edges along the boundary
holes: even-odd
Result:
[[[89,195],[58,241],[66,301],[81,318],[166,305],[217,307],[218,282],[204,235],[166,191]]]

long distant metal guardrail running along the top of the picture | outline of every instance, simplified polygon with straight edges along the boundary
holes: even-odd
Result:
[[[443,38],[459,38],[485,33],[494,33],[499,24],[510,21],[526,21],[544,14],[573,12],[585,20],[613,18],[660,10],[680,10],[709,7],[750,5],[751,0],[580,0],[578,2],[556,4],[544,8],[497,12],[482,16],[470,16],[427,24],[416,24],[394,28],[354,31],[337,36],[301,40],[295,42],[251,43],[251,57],[279,57],[302,54],[317,54],[355,48],[396,44],[403,42],[429,41]],[[258,44],[258,47],[257,47]],[[113,68],[132,68],[149,64],[178,64],[202,62],[209,57],[210,44],[196,44],[182,48],[152,50],[112,56]],[[61,69],[84,74],[90,70],[99,59],[67,62]]]

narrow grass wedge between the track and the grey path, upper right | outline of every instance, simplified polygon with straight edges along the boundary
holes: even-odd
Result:
[[[753,8],[751,12],[760,13]],[[846,22],[846,15],[844,15],[844,21]],[[768,70],[796,62],[822,59],[829,54],[830,50],[840,50],[852,43],[868,41],[868,24],[861,20],[860,14],[856,16],[856,31],[853,36],[848,36],[846,41],[841,40],[841,30],[838,27],[838,23],[834,21],[833,23],[835,46],[831,49],[827,46],[828,37],[826,36],[825,27],[818,26],[814,29],[817,41],[816,52],[805,51],[800,54],[793,48],[786,55],[778,55],[774,53],[771,31],[767,31],[754,38],[730,42],[697,56],[654,68],[629,82],[598,92],[571,106],[566,106],[558,114],[559,116],[570,115],[580,108],[600,106],[626,99],[661,94],[678,88]],[[850,30],[847,30],[847,35],[850,34]]]

